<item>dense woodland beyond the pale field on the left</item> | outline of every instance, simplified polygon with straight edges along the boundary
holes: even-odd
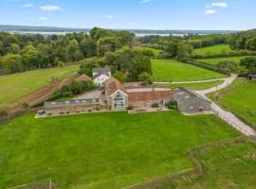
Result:
[[[95,27],[90,33],[22,35],[0,32],[0,70],[13,74],[104,56],[131,45],[134,34]]]

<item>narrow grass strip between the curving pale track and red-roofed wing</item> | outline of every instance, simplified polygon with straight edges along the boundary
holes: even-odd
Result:
[[[184,83],[184,84],[158,84],[160,87],[167,87],[170,89],[175,89],[179,87],[185,87],[190,90],[194,91],[201,91],[210,89],[211,87],[215,87],[223,83],[223,80],[217,80],[217,81],[210,81],[210,82],[203,82],[203,83]]]

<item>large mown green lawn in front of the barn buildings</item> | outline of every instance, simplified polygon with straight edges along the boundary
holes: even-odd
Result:
[[[0,127],[4,188],[49,178],[62,189],[121,188],[191,168],[186,151],[192,146],[239,136],[214,115],[32,116]]]

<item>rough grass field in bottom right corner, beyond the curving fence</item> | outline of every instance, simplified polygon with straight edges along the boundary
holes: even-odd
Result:
[[[197,152],[203,165],[203,176],[195,180],[179,180],[162,189],[256,188],[256,145],[237,144]]]

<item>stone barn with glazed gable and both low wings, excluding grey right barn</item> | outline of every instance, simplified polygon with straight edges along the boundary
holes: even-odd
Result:
[[[157,103],[164,106],[173,99],[174,91],[146,91],[127,92],[123,84],[114,77],[108,78],[104,82],[104,88],[99,98],[67,100],[60,102],[45,102],[46,114],[91,112],[94,110],[121,111],[128,106],[134,108],[150,107]]]

